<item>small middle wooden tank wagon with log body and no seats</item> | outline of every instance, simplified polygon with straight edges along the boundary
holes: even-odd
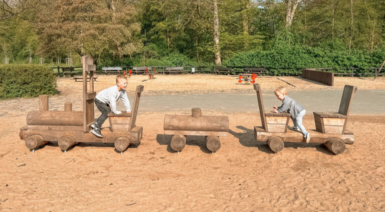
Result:
[[[186,145],[186,135],[205,135],[206,146],[214,154],[221,148],[219,136],[227,136],[229,117],[202,115],[201,108],[191,109],[191,115],[164,116],[164,134],[172,134],[170,146],[179,153]]]

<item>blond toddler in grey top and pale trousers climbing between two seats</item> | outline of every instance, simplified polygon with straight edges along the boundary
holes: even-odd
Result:
[[[306,142],[308,143],[310,141],[310,132],[306,131],[302,124],[302,117],[306,114],[305,108],[287,95],[285,87],[278,87],[274,90],[274,93],[277,98],[282,101],[282,105],[279,107],[273,106],[273,111],[279,113],[284,111],[289,112],[290,118],[294,123],[294,126],[290,128],[294,130],[300,129],[303,136],[306,138]]]

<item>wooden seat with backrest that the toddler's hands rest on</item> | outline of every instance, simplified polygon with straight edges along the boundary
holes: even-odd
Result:
[[[259,113],[261,115],[262,127],[266,132],[286,132],[287,125],[290,119],[290,113],[273,111],[265,111],[262,100],[262,90],[258,83],[254,84],[254,89],[257,91]]]

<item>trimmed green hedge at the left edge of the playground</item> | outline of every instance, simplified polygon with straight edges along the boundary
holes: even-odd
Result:
[[[56,94],[51,68],[36,64],[0,65],[0,99]]]

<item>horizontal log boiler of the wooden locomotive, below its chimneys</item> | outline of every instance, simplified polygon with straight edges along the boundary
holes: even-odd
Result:
[[[83,111],[30,111],[28,125],[83,126]]]

